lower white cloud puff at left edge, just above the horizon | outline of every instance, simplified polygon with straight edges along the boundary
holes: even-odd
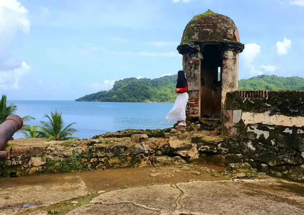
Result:
[[[14,70],[0,70],[0,88],[4,90],[18,90],[20,78],[29,70],[31,67],[22,62],[19,68]]]

